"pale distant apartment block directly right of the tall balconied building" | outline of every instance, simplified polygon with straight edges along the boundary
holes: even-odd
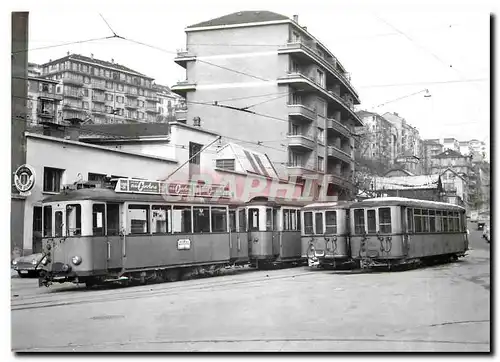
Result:
[[[396,160],[398,134],[396,127],[377,113],[357,112],[363,127],[356,127],[359,136],[356,159],[370,160],[390,169]]]

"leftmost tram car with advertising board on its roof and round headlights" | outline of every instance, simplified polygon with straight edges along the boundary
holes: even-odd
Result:
[[[114,189],[44,200],[40,285],[175,281],[186,272],[248,263],[243,204],[187,198],[179,185],[173,189],[181,196],[165,195],[159,181],[115,181]]]

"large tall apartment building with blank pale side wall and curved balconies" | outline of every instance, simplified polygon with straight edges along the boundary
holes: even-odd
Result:
[[[241,11],[185,31],[187,49],[175,62],[186,80],[172,91],[186,98],[186,119],[244,138],[280,175],[319,176],[318,192],[349,198],[359,96],[342,63],[298,16]]]

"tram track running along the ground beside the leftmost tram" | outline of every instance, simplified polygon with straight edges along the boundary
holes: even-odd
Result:
[[[236,285],[246,285],[253,283],[262,283],[267,281],[275,281],[275,280],[286,280],[293,278],[300,278],[302,276],[308,276],[311,274],[318,275],[318,271],[306,271],[302,273],[293,273],[291,275],[281,275],[281,276],[269,276],[266,274],[265,276],[260,276],[258,278],[252,278],[250,280],[232,280],[232,281],[210,281],[208,283],[190,283],[189,285],[181,285],[182,282],[173,282],[168,283],[163,287],[161,284],[151,284],[150,286],[141,286],[137,289],[135,287],[127,288],[120,293],[112,293],[109,291],[102,291],[99,295],[88,295],[92,291],[84,291],[85,299],[82,299],[83,295],[79,294],[75,297],[70,297],[65,300],[61,300],[59,293],[51,293],[48,298],[44,298],[45,300],[39,300],[40,295],[30,296],[29,298],[23,298],[18,303],[15,299],[12,300],[11,311],[18,310],[26,310],[26,309],[38,309],[38,308],[50,308],[50,307],[58,307],[58,306],[68,306],[68,305],[76,305],[76,304],[88,304],[88,303],[100,303],[100,302],[113,302],[117,300],[129,300],[129,299],[138,299],[142,297],[159,297],[163,295],[179,295],[185,292],[192,292],[197,290],[207,290],[207,289],[219,289],[228,286],[236,286]],[[162,283],[163,284],[163,283]],[[151,289],[152,286],[161,285],[161,289],[154,291]],[[92,293],[93,294],[93,293]],[[45,296],[45,295],[44,295]],[[95,296],[95,297],[94,297]],[[30,299],[26,301],[26,299]],[[35,299],[35,301],[32,301]]]

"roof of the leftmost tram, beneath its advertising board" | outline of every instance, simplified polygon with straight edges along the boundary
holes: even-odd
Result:
[[[167,195],[151,195],[138,193],[115,192],[105,188],[89,188],[80,190],[66,190],[57,195],[50,195],[43,199],[44,203],[64,201],[103,201],[103,202],[145,202],[145,203],[172,203],[172,204],[219,204],[227,206],[242,206],[243,203],[229,199],[212,199],[208,197],[183,197]]]

